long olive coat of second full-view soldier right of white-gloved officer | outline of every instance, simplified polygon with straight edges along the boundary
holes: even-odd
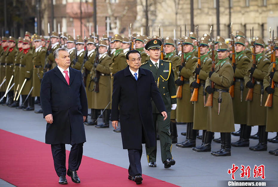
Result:
[[[208,107],[204,107],[204,85],[206,83],[209,72],[211,71],[211,58],[209,55],[205,55],[201,60],[201,70],[198,78],[200,79],[200,86],[198,88],[198,101],[194,102],[194,116],[193,116],[193,129],[207,130],[207,111]],[[195,69],[198,63],[195,64],[193,74],[189,78],[190,88],[193,89],[192,83],[195,80]],[[207,95],[207,93],[205,93]]]

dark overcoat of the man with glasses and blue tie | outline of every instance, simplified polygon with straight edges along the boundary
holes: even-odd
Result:
[[[151,98],[160,113],[166,111],[151,71],[139,68],[137,81],[129,66],[115,73],[111,121],[118,120],[120,108],[124,149],[141,149],[142,143],[147,147],[156,145]]]

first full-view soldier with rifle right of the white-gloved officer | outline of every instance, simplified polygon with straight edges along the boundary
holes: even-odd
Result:
[[[193,116],[194,116],[194,104],[190,101],[191,94],[193,92],[189,87],[189,78],[192,76],[193,70],[198,58],[193,53],[193,40],[190,37],[185,36],[184,42],[184,66],[181,66],[181,59],[175,68],[175,83],[178,86],[182,86],[181,99],[177,99],[177,122],[187,123],[186,140],[181,143],[177,143],[178,147],[195,147],[197,131],[193,130]],[[178,76],[183,76],[183,81],[178,79]]]

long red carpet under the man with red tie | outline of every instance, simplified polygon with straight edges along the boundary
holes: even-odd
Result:
[[[19,187],[59,186],[50,145],[0,129],[0,178]],[[66,151],[68,159],[69,151]],[[128,180],[128,171],[116,165],[83,156],[78,170],[81,183],[67,177],[67,186],[176,186],[143,175],[143,184]]]

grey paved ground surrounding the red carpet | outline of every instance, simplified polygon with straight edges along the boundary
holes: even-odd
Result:
[[[35,105],[36,109],[39,108]],[[35,114],[33,111],[22,111],[15,108],[9,108],[0,105],[0,129],[19,134],[25,137],[32,138],[41,142],[45,141],[45,119],[42,114]],[[101,122],[100,118],[98,122]],[[111,123],[110,123],[111,124]],[[239,125],[235,125],[236,130]],[[252,128],[252,133],[257,132],[257,127]],[[180,135],[186,130],[186,125],[178,125],[178,142],[185,140],[185,137]],[[85,126],[87,142],[84,144],[83,155],[111,163],[123,168],[128,168],[127,150],[123,150],[120,133],[113,132],[112,125],[110,128],[97,129],[94,126]],[[200,131],[201,133],[201,131]],[[268,137],[275,137],[276,133],[269,133]],[[215,137],[220,137],[219,133],[215,133]],[[1,139],[1,137],[0,137]],[[235,142],[239,137],[232,136],[232,142]],[[250,145],[256,145],[258,140],[250,140]],[[197,145],[201,144],[201,140],[197,140]],[[268,143],[268,151],[274,150],[278,144]],[[70,150],[70,145],[66,146]],[[212,151],[220,149],[220,144],[212,143]],[[239,166],[239,170],[235,173],[236,180],[262,180],[253,178],[253,168],[255,165],[265,165],[265,180],[274,181],[278,186],[278,164],[277,156],[268,154],[268,151],[255,152],[250,151],[248,147],[234,148],[232,147],[232,156],[230,157],[215,157],[210,152],[198,153],[193,152],[192,148],[178,148],[173,144],[172,155],[176,160],[176,164],[171,168],[164,169],[160,157],[160,145],[158,141],[157,168],[148,167],[146,159],[146,151],[143,149],[142,169],[143,174],[148,176],[176,184],[178,186],[217,186],[219,181],[232,180],[231,175],[227,173],[229,168],[235,164]],[[240,178],[241,165],[251,168],[251,177],[249,179]],[[82,164],[80,170],[82,169]],[[4,171],[0,171],[4,172]],[[55,171],[53,169],[53,174]],[[126,172],[126,175],[128,173]],[[80,176],[82,177],[82,176]],[[57,178],[58,180],[58,178]],[[0,187],[9,186],[3,180],[0,180]],[[10,185],[13,186],[13,185]],[[269,185],[268,185],[269,186]]]

